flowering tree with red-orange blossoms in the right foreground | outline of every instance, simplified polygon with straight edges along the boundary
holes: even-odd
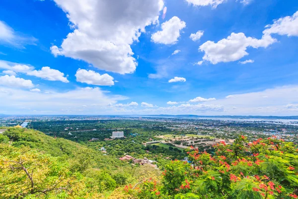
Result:
[[[172,161],[159,181],[126,187],[133,198],[291,199],[298,198],[298,150],[276,137],[248,143],[239,136],[221,142],[215,154],[188,150],[191,164]]]

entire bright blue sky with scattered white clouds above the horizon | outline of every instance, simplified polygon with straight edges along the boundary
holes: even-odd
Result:
[[[2,0],[0,113],[297,115],[297,44],[297,0]]]

